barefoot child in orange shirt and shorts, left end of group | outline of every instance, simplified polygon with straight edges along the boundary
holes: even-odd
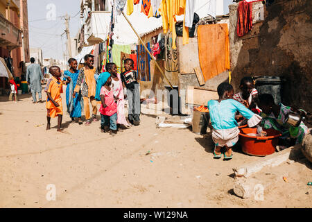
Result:
[[[63,115],[63,107],[62,107],[62,98],[60,94],[63,92],[63,84],[60,76],[62,75],[60,71],[60,67],[53,65],[49,69],[52,78],[48,80],[46,83],[46,88],[44,91],[46,92],[46,110],[47,115],[46,119],[48,123],[46,124],[46,130],[50,129],[50,120],[51,118],[58,117],[58,132],[61,131],[60,127],[62,124],[62,115]]]

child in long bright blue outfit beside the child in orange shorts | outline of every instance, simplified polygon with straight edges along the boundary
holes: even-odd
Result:
[[[73,89],[76,87],[79,70],[77,70],[77,60],[74,58],[70,58],[68,60],[68,64],[70,69],[64,71],[64,80],[66,80],[66,104],[67,104],[67,112],[71,117],[71,121],[74,122],[74,118],[78,118],[79,125],[83,124],[83,120],[81,119],[81,112],[83,109],[83,96],[81,95],[81,90],[78,94],[76,94],[75,98],[73,98]]]

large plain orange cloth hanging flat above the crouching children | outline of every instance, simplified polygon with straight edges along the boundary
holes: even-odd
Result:
[[[198,57],[205,81],[229,69],[227,24],[198,26]]]

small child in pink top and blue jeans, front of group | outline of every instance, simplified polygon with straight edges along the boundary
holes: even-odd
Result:
[[[101,87],[101,131],[110,135],[117,133],[117,104],[115,103],[112,90],[112,78],[108,72],[102,73],[99,77],[104,85]]]

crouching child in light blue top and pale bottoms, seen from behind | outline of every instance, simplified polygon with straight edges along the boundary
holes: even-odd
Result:
[[[261,121],[261,117],[254,114],[244,105],[233,98],[234,89],[229,83],[218,85],[218,100],[208,102],[209,115],[211,120],[212,139],[214,140],[214,158],[220,158],[221,148],[225,146],[224,160],[232,159],[232,146],[239,140],[239,127],[235,120],[235,113],[241,112],[243,117],[248,119],[248,126],[254,127]]]

